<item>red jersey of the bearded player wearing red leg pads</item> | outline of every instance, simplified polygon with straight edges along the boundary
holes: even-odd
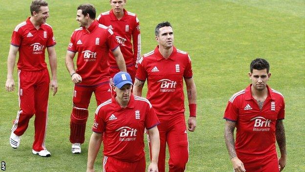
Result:
[[[76,73],[82,76],[77,85],[109,82],[109,50],[118,47],[111,29],[94,21],[87,29],[80,27],[71,35],[68,50],[78,52]]]

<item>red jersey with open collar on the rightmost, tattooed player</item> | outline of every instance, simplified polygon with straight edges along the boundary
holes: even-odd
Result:
[[[251,85],[230,98],[223,118],[236,122],[237,154],[272,154],[276,151],[276,121],[284,119],[284,98],[267,85],[268,96],[260,110],[251,95]]]

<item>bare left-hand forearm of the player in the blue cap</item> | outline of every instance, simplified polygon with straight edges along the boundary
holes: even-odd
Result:
[[[94,161],[101,147],[101,143],[102,143],[102,135],[97,137],[96,134],[93,133],[89,141],[87,169],[93,169]]]

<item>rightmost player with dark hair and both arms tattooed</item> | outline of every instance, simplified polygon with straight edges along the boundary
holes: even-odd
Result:
[[[266,60],[253,60],[252,83],[230,98],[224,112],[224,138],[235,172],[280,172],[286,165],[285,102],[280,92],[267,85],[270,76]]]

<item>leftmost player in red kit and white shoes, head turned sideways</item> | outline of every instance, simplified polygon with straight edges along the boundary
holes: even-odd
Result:
[[[46,24],[49,17],[48,3],[44,0],[33,0],[30,6],[31,17],[17,25],[13,31],[11,46],[7,58],[7,91],[14,91],[15,82],[13,70],[16,54],[19,51],[18,95],[20,110],[14,121],[10,136],[10,145],[17,148],[22,134],[27,129],[29,120],[35,114],[35,136],[32,152],[49,157],[51,153],[44,145],[47,116],[49,87],[53,96],[57,92],[55,38],[52,27]],[[47,49],[52,73],[50,81],[44,52]]]

